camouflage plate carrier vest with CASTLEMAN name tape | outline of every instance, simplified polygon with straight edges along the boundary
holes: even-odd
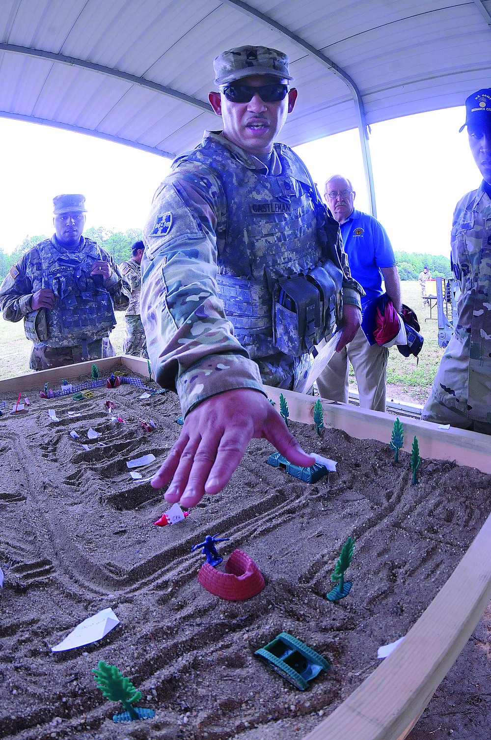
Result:
[[[249,169],[211,139],[175,161],[203,163],[223,185],[227,219],[217,224],[218,296],[251,359],[278,351],[299,357],[331,334],[342,315],[345,275],[332,256],[339,225],[302,160],[283,144],[275,149],[278,176]]]

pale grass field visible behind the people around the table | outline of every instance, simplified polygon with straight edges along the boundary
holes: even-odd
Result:
[[[438,347],[438,325],[430,320],[430,309],[422,307],[421,291],[417,280],[403,280],[402,302],[416,311],[421,324],[421,333],[424,336],[424,346],[419,354],[419,363],[416,357],[403,357],[392,347],[387,365],[387,383],[389,393],[397,397],[399,389],[403,389],[407,396],[418,402],[426,400],[435,377],[440,361],[442,349]],[[436,315],[436,310],[433,311]],[[124,314],[117,312],[118,324],[111,334],[111,341],[116,353],[120,354],[123,347]],[[425,319],[428,319],[425,321]],[[0,317],[0,337],[2,353],[0,357],[0,378],[12,377],[21,373],[30,372],[29,354],[31,343],[24,335],[24,323],[10,323]],[[393,386],[393,387],[391,387]]]

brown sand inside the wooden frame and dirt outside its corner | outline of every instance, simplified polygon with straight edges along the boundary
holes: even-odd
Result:
[[[185,522],[155,527],[169,505],[131,479],[126,460],[152,452],[157,460],[139,470],[155,472],[179,434],[180,408],[174,394],[138,400],[141,392],[101,388],[77,403],[41,400],[36,389],[15,416],[16,396],[0,396],[0,738],[299,739],[436,596],[490,512],[491,476],[424,461],[413,486],[406,453],[398,465],[388,445],[290,423],[306,450],[338,461],[337,473],[300,482],[266,465],[274,450],[252,440],[221,494]],[[125,425],[110,421],[106,399]],[[156,430],[144,432],[141,418]],[[88,440],[89,427],[101,437]],[[258,596],[226,602],[197,582],[203,557],[191,548],[206,534],[230,538],[219,545],[224,557],[240,548],[254,558],[266,583]],[[325,593],[348,536],[353,588],[331,603]],[[104,639],[50,651],[109,606],[121,625]],[[332,664],[305,692],[254,656],[282,630]],[[487,612],[411,740],[489,738],[490,630]],[[121,704],[96,687],[99,660],[129,676],[154,719],[112,722]]]

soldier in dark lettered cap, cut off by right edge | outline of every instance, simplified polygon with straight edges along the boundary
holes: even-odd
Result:
[[[466,110],[461,130],[484,179],[453,214],[458,318],[421,418],[491,434],[491,89],[470,95]]]

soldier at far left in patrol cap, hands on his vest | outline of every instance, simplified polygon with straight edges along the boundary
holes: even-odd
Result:
[[[111,255],[82,236],[84,196],[57,195],[53,203],[55,234],[24,252],[0,286],[4,319],[24,319],[33,341],[32,370],[114,356],[114,309],[129,303],[129,283]]]

